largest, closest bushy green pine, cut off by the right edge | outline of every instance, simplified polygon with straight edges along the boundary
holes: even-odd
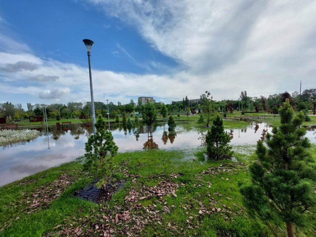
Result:
[[[316,205],[315,161],[301,127],[304,114],[294,111],[289,99],[279,109],[281,125],[257,142],[258,162],[249,167],[251,183],[241,186],[244,203],[253,217],[261,219],[275,234],[294,236],[294,228],[307,225]],[[315,226],[314,228],[315,229]],[[283,235],[282,235],[283,236]],[[307,236],[311,236],[307,234]]]

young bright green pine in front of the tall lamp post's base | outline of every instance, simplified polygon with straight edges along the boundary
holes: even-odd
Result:
[[[88,169],[99,179],[109,181],[112,172],[109,167],[113,167],[113,156],[118,152],[118,146],[113,141],[113,136],[110,131],[105,131],[105,122],[98,119],[95,123],[97,132],[88,138],[85,144],[85,158],[84,168]]]

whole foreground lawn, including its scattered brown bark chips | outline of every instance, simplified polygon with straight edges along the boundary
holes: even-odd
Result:
[[[102,204],[74,196],[92,181],[80,160],[37,173],[0,188],[0,236],[266,236],[238,188],[253,146],[234,150],[240,162],[205,161],[202,148],[120,153],[126,183]]]

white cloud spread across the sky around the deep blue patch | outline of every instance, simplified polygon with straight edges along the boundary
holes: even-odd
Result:
[[[300,80],[305,88],[315,87],[315,1],[90,2],[103,8],[107,15],[137,27],[155,49],[185,68],[172,73],[166,68],[163,75],[93,70],[95,101],[128,103],[131,98],[148,95],[168,103],[185,95],[199,98],[205,90],[211,91],[215,100],[236,99],[242,90],[250,96],[268,96],[298,90]],[[137,57],[120,45],[112,53],[116,57],[125,53],[139,64]],[[43,60],[29,52],[0,52],[0,67],[19,61],[39,67],[33,71],[2,72],[2,90],[39,96],[47,103],[56,99],[62,103],[90,100],[87,68]],[[151,68],[165,67],[160,62],[147,63]],[[49,83],[34,87],[10,84],[29,78],[36,79],[33,83]]]

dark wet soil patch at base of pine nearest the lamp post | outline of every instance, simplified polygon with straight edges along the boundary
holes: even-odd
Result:
[[[99,189],[95,185],[98,181],[98,179],[94,180],[89,186],[76,191],[75,195],[83,200],[100,204],[110,200],[113,193],[119,191],[119,189],[125,184],[124,180],[118,180],[114,184],[107,184],[106,189]]]

